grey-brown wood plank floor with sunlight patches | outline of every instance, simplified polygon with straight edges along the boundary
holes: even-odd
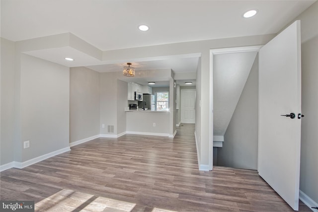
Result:
[[[33,200],[35,211],[293,211],[256,171],[199,171],[192,124],[174,139],[95,139],[0,177],[1,200]]]

